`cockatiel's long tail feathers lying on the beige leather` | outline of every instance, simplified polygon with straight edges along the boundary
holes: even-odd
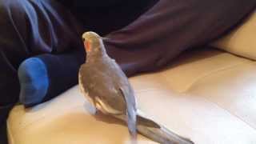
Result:
[[[190,139],[174,134],[164,126],[159,125],[150,118],[146,118],[139,110],[137,116],[137,130],[140,134],[150,138],[154,142],[160,142],[162,144],[194,144]]]

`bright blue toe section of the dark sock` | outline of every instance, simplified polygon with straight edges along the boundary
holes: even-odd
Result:
[[[21,85],[20,102],[34,106],[45,98],[49,88],[47,68],[40,58],[28,58],[18,68]]]

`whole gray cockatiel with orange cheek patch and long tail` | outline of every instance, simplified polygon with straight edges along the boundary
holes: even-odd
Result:
[[[127,122],[132,138],[138,132],[163,144],[192,144],[159,125],[136,107],[134,90],[121,68],[106,54],[102,38],[94,32],[82,34],[86,49],[86,63],[79,70],[79,87],[82,94],[103,114]]]

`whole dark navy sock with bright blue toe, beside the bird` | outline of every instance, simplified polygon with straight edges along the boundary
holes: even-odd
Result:
[[[34,106],[74,86],[83,62],[85,55],[78,50],[26,59],[18,68],[20,102],[26,107]]]

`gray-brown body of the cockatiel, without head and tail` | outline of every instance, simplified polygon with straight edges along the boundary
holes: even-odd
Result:
[[[90,102],[104,114],[126,115],[126,101],[135,112],[134,91],[130,88],[126,75],[113,59],[106,57],[86,62],[80,67],[79,75],[82,91],[90,95]]]

